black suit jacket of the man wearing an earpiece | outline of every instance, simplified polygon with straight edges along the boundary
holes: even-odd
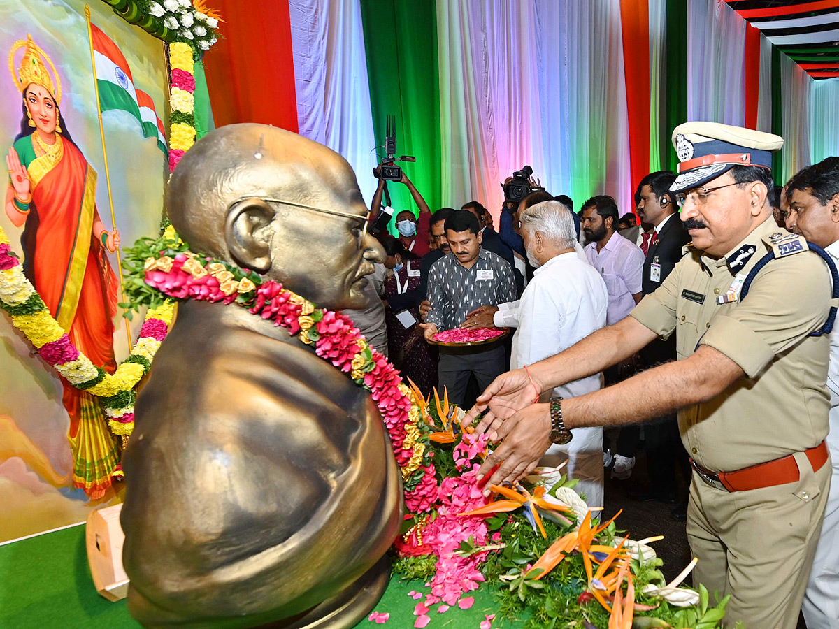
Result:
[[[656,242],[649,246],[647,257],[644,258],[644,274],[641,278],[641,292],[645,295],[654,293],[664,282],[664,278],[678,263],[682,256],[682,247],[690,242],[690,234],[682,227],[678,214],[670,216],[661,228]],[[657,259],[656,259],[657,258]],[[661,265],[661,282],[654,282],[650,279],[650,272],[653,263]],[[654,366],[656,363],[675,361],[676,359],[676,335],[670,335],[668,340],[654,340],[641,350],[641,360],[644,366]]]

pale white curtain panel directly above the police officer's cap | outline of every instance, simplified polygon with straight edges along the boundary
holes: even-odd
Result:
[[[746,20],[722,0],[687,3],[687,119],[742,127]]]

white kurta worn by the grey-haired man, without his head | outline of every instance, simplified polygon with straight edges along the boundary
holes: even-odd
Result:
[[[562,253],[537,268],[519,299],[519,328],[513,335],[510,369],[531,365],[574,345],[606,325],[606,284],[600,273],[583,262],[576,252]],[[574,398],[597,391],[600,374],[556,387],[553,395]],[[603,503],[603,429],[578,428],[565,445],[551,445],[542,465],[555,466],[563,460],[562,472],[579,482],[577,491],[586,494],[591,507]],[[546,478],[546,484],[559,480]]]

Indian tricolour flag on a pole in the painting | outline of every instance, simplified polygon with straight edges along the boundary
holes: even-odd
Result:
[[[122,50],[102,29],[91,23],[93,59],[96,63],[96,89],[102,112],[121,109],[137,118],[143,127],[143,138],[156,138],[161,151],[166,152],[163,123],[154,111],[151,96],[134,87],[131,68]]]

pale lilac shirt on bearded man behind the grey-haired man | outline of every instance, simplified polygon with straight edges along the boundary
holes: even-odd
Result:
[[[616,324],[635,307],[633,294],[641,292],[644,252],[616,231],[599,252],[597,242],[586,246],[586,258],[602,275],[609,291],[606,324]]]

